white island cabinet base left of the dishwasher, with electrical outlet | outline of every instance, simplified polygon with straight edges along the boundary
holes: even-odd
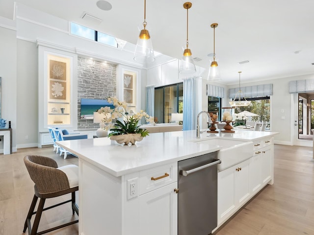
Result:
[[[81,159],[79,169],[80,235],[178,234],[177,162],[121,177]]]

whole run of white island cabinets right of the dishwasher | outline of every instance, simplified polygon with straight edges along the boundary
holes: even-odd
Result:
[[[254,141],[253,149],[250,159],[218,172],[217,228],[266,184],[273,183],[273,138]]]

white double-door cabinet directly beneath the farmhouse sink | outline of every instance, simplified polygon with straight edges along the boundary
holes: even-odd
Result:
[[[250,159],[218,172],[218,227],[250,197]]]

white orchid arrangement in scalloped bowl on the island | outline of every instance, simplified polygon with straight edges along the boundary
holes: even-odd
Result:
[[[98,110],[99,114],[104,114],[105,118],[103,122],[105,123],[106,130],[111,132],[108,134],[111,140],[117,141],[117,139],[130,139],[132,144],[135,141],[141,141],[143,137],[148,136],[149,132],[146,129],[140,128],[139,121],[142,118],[145,118],[147,122],[154,122],[154,118],[146,114],[143,110],[139,113],[130,115],[127,110],[127,103],[119,101],[116,97],[108,97],[108,103],[112,103],[114,108],[110,107],[101,107]],[[131,136],[126,136],[130,135]],[[119,141],[117,141],[119,142]],[[121,141],[120,141],[121,142]],[[128,144],[128,141],[122,141]],[[122,143],[121,142],[121,143]]]

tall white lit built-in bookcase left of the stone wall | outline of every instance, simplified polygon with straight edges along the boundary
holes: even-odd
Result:
[[[78,126],[77,61],[70,51],[38,45],[39,147],[52,144],[48,127],[75,130]]]

